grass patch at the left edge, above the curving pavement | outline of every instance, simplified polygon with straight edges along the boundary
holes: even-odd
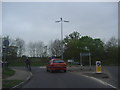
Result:
[[[2,70],[2,78],[3,79],[13,76],[14,74],[15,74],[15,71],[10,68],[3,68],[3,70]]]

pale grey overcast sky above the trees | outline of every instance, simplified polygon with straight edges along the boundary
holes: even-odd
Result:
[[[61,39],[62,17],[64,37],[73,31],[82,36],[109,40],[118,37],[117,2],[3,2],[2,34],[30,41]]]

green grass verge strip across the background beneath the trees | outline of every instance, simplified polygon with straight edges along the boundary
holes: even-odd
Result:
[[[29,60],[31,61],[31,66],[46,66],[48,61],[50,60],[49,58],[29,58]],[[67,62],[67,60],[65,60]],[[79,60],[75,60],[77,62],[79,62]],[[85,63],[85,60],[83,60],[83,63]],[[87,64],[89,65],[89,60],[87,60]],[[92,65],[95,65],[96,61],[92,60]],[[120,66],[120,64],[118,64],[117,60],[101,60],[101,64],[102,65],[107,65],[107,66]],[[25,59],[23,58],[17,58],[17,59],[13,59],[13,60],[9,60],[9,66],[25,66]],[[71,66],[70,64],[68,64],[68,66]]]

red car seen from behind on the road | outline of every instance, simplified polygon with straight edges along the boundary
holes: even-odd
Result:
[[[62,59],[52,59],[49,61],[47,65],[47,71],[53,72],[53,71],[64,71],[67,70],[67,65]]]

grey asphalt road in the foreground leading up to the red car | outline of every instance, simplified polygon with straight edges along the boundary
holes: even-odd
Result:
[[[111,88],[75,72],[49,73],[45,68],[33,67],[32,73],[32,79],[22,88]]]

